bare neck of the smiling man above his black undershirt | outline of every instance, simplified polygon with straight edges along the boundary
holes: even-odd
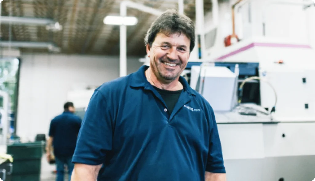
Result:
[[[159,81],[157,77],[154,75],[154,73],[152,72],[151,68],[145,71],[145,75],[148,82],[159,89],[176,91],[176,90],[182,90],[184,88],[183,85],[180,83],[179,78],[169,83]]]

